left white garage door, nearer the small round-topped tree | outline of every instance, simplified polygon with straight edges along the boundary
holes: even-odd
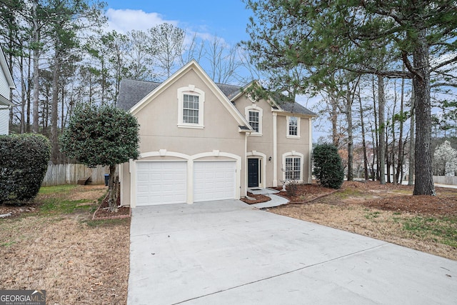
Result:
[[[136,162],[136,205],[184,204],[187,198],[185,161]]]

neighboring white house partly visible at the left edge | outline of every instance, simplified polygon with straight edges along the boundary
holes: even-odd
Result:
[[[0,46],[0,134],[9,133],[9,108],[14,106],[9,101],[9,90],[16,89],[13,77],[9,73],[5,54]]]

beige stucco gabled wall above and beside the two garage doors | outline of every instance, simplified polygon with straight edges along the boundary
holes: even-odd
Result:
[[[179,125],[178,89],[195,86],[204,91],[204,128],[183,128]],[[215,88],[206,85],[194,70],[176,79],[164,91],[151,96],[144,106],[134,113],[140,124],[140,151],[144,160],[229,160],[231,157],[218,156],[219,153],[238,156],[241,169],[245,166],[245,134],[238,131],[238,122],[224,106]],[[160,152],[160,153],[159,153]],[[156,154],[156,156],[151,156]],[[171,154],[173,154],[171,156]],[[211,156],[209,156],[209,154]],[[201,158],[196,156],[201,155]],[[131,166],[122,166],[122,194],[124,205],[131,201]],[[244,175],[241,174],[241,196],[246,195]]]

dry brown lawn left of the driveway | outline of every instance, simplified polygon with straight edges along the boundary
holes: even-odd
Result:
[[[0,206],[0,214],[15,211],[0,219],[0,288],[44,289],[46,304],[126,304],[130,219],[91,220],[105,192],[71,188],[55,205],[70,201],[74,210],[41,205],[56,194],[40,194],[31,206]]]

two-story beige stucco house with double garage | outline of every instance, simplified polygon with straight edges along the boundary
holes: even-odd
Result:
[[[311,183],[316,114],[243,89],[215,84],[196,61],[161,84],[121,81],[118,106],[136,116],[141,139],[141,158],[119,166],[121,204],[240,199],[287,179]]]

